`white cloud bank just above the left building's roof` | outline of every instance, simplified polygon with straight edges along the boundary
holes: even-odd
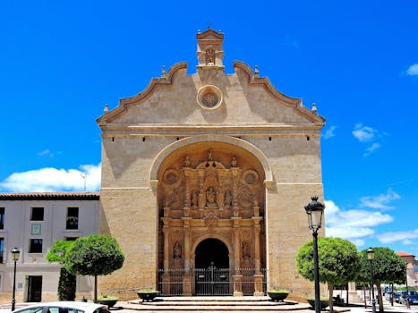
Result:
[[[0,188],[8,192],[31,191],[93,191],[100,188],[101,165],[80,165],[80,169],[41,168],[21,173],[13,173],[3,182]]]

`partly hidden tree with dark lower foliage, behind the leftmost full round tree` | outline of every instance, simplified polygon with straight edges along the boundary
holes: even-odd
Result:
[[[65,256],[72,247],[74,241],[55,241],[54,246],[47,253],[48,262],[58,262],[61,264],[59,280],[58,280],[58,299],[70,300],[75,299],[76,280],[75,275],[71,274],[64,267]]]

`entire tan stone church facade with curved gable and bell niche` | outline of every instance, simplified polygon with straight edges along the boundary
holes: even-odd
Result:
[[[311,240],[303,207],[323,199],[325,120],[257,68],[227,74],[223,38],[198,33],[195,73],[176,63],[97,120],[99,232],[126,255],[102,293],[311,294],[294,258]]]

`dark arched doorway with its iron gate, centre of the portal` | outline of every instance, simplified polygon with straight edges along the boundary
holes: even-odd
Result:
[[[229,251],[224,242],[209,238],[195,251],[195,292],[200,296],[229,295]]]

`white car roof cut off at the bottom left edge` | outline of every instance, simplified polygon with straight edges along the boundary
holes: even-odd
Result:
[[[109,310],[106,305],[98,303],[59,301],[30,305],[15,309],[13,313],[109,313]]]

